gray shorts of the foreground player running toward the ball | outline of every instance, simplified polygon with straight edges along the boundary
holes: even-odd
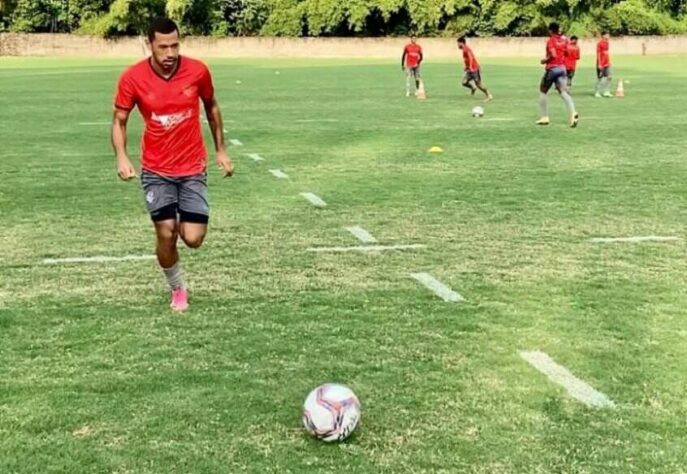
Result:
[[[177,219],[178,215],[180,222],[207,224],[207,173],[170,177],[143,170],[141,186],[153,221]]]

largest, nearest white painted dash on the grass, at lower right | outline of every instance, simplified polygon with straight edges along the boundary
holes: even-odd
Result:
[[[565,388],[571,397],[585,405],[593,408],[615,407],[615,403],[606,395],[595,390],[584,380],[575,377],[568,369],[557,364],[547,354],[539,351],[521,351],[520,357],[532,364],[535,369],[546,375],[552,382]]]

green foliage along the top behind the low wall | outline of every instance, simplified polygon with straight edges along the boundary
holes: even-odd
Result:
[[[213,36],[427,36],[687,31],[685,0],[0,0],[0,31],[136,34],[167,13],[183,33]]]

